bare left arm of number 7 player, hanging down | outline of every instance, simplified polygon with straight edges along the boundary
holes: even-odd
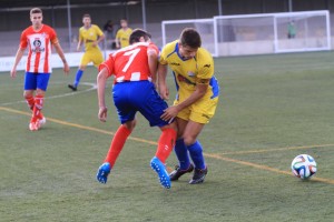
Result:
[[[98,118],[101,122],[107,121],[107,107],[106,107],[106,83],[108,79],[108,70],[104,68],[97,75],[97,92],[98,92],[98,103],[99,103],[99,113]]]

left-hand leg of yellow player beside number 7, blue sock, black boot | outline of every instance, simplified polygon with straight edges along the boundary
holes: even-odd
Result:
[[[178,139],[176,140],[174,152],[179,163],[178,165],[176,165],[175,170],[169,174],[171,181],[176,181],[181,175],[193,172],[194,170],[194,165],[190,163],[188,150],[183,138],[188,121],[180,118],[176,118],[176,122],[178,129]]]

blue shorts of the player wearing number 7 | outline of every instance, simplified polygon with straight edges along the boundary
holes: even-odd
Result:
[[[160,119],[168,104],[157,93],[149,81],[116,83],[112,88],[114,103],[121,124],[135,119],[139,111],[150,127],[164,127],[168,122]]]

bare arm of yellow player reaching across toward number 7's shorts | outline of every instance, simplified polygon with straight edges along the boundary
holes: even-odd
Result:
[[[165,113],[161,115],[161,119],[168,121],[175,118],[179,111],[203,98],[207,91],[208,83],[209,79],[198,79],[196,82],[196,90],[190,94],[190,97],[177,105],[167,108]]]

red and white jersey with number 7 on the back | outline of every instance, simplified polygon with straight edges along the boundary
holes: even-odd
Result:
[[[122,48],[109,54],[99,70],[107,68],[109,77],[115,74],[115,82],[151,81],[147,57],[147,51],[151,49],[159,54],[157,46],[148,42],[138,42]]]

